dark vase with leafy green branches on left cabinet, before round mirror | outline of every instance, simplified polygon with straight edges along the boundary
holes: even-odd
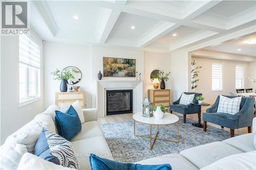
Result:
[[[53,80],[61,80],[60,87],[59,87],[59,90],[61,92],[67,92],[68,91],[67,80],[75,78],[72,75],[72,72],[66,69],[64,69],[62,72],[60,72],[59,69],[56,69],[55,71],[51,72],[51,74],[54,76]]]

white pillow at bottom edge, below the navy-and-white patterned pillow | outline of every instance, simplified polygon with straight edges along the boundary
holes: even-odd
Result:
[[[26,153],[23,155],[22,159],[18,164],[17,170],[24,169],[63,169],[63,170],[71,170],[73,168],[63,167],[61,165],[57,165],[55,163],[44,160],[38,156],[35,156],[30,153]]]

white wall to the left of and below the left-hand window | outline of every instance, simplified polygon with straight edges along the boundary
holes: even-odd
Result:
[[[43,110],[42,99],[18,106],[18,36],[1,36],[1,144]]]

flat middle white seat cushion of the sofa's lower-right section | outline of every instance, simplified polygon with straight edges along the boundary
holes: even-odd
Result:
[[[197,168],[203,168],[226,156],[240,153],[243,152],[220,141],[203,144],[180,152],[183,157],[197,166]]]

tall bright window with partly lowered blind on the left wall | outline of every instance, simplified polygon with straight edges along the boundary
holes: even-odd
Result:
[[[19,36],[19,103],[40,96],[40,46],[29,36]]]

